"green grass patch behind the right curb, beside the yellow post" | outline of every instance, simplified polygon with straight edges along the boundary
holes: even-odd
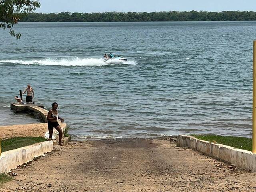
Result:
[[[216,141],[219,144],[228,145],[238,149],[252,151],[252,139],[245,137],[234,136],[219,136],[219,135],[191,135],[197,139],[205,141]]]

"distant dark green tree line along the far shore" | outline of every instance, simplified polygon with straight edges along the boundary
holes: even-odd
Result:
[[[168,11],[168,12],[104,12],[104,13],[28,13],[21,22],[138,22],[138,21],[251,21],[253,11]]]

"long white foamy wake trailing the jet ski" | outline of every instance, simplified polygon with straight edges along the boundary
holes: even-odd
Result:
[[[59,65],[59,66],[104,66],[110,64],[130,64],[136,65],[135,61],[107,61],[97,58],[46,58],[42,60],[0,60],[0,64],[22,64],[22,65]]]

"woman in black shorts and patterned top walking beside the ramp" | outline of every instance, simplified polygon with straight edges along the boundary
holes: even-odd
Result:
[[[53,128],[55,128],[59,132],[59,145],[61,145],[61,139],[62,139],[62,129],[60,128],[60,125],[58,124],[58,119],[61,120],[61,122],[64,122],[64,119],[59,117],[58,114],[58,104],[54,102],[52,104],[52,109],[49,110],[48,115],[47,115],[47,120],[48,120],[48,130],[49,130],[49,139],[52,140],[52,133],[53,133]]]

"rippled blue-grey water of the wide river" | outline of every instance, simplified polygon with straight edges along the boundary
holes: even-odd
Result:
[[[251,135],[256,22],[20,23],[15,30],[20,40],[0,30],[1,125],[19,123],[7,107],[30,83],[35,102],[58,102],[73,138]],[[105,63],[110,52],[128,61]]]

